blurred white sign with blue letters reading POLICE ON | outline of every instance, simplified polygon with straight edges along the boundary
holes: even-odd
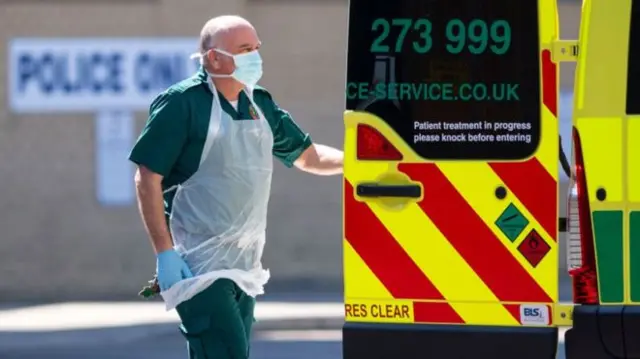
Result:
[[[169,85],[198,69],[195,38],[13,39],[14,112],[147,110]]]

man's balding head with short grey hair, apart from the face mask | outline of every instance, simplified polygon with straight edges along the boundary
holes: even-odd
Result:
[[[256,51],[260,44],[253,25],[240,16],[215,17],[200,32],[200,54],[211,74],[231,75],[236,69],[232,55]]]

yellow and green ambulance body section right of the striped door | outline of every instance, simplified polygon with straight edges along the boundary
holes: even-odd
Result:
[[[640,357],[640,1],[584,1],[569,201],[568,359]]]

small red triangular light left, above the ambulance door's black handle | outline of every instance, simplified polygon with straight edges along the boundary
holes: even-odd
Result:
[[[358,124],[357,156],[359,160],[400,161],[402,153],[375,128]]]

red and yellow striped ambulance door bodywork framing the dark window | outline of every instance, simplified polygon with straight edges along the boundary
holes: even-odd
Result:
[[[551,1],[541,1],[541,14]],[[553,20],[553,29],[556,23]],[[553,325],[557,301],[557,67],[541,30],[542,140],[522,162],[429,162],[374,115],[345,114],[344,276],[347,321],[528,325],[523,308],[544,308]],[[357,161],[356,127],[375,127],[402,154],[400,164]],[[349,157],[349,155],[352,155]],[[423,187],[406,203],[362,199],[359,183],[405,181]],[[495,189],[507,189],[498,199]],[[507,206],[528,220],[508,238],[496,224]],[[518,250],[530,233],[548,246],[528,261]],[[536,242],[538,243],[538,242]],[[537,325],[540,325],[538,323]]]

